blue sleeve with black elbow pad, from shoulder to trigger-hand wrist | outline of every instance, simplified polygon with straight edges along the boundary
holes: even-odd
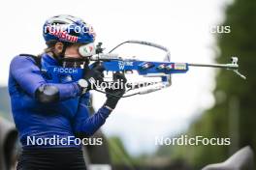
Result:
[[[11,62],[10,73],[21,89],[33,98],[35,98],[37,89],[44,86],[56,87],[59,100],[71,99],[80,95],[80,87],[76,82],[66,84],[48,83],[30,57],[16,56]]]

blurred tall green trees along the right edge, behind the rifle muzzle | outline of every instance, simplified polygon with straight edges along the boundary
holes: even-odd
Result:
[[[216,62],[227,63],[231,56],[238,56],[240,72],[247,76],[247,80],[232,71],[218,71],[214,106],[185,133],[231,137],[231,146],[165,146],[157,152],[157,155],[165,154],[173,159],[182,157],[194,169],[221,162],[246,145],[256,149],[256,1],[235,0],[225,9],[221,25],[230,26],[231,33],[216,36],[219,49]]]

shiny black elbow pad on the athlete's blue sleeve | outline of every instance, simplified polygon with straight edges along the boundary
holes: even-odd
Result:
[[[35,98],[42,103],[56,102],[59,100],[59,90],[52,85],[43,85],[36,90]]]

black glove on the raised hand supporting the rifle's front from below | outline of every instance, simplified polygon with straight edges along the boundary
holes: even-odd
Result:
[[[113,74],[113,80],[114,81],[119,81],[119,87],[117,87],[116,89],[106,89],[106,97],[107,100],[105,102],[106,106],[111,107],[112,109],[115,108],[118,100],[123,96],[123,94],[125,93],[125,83],[127,82],[127,79],[125,78],[124,74],[120,73],[120,72],[116,72]]]

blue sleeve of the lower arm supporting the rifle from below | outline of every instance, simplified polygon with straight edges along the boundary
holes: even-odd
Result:
[[[111,110],[103,106],[90,116],[88,100],[88,93],[80,97],[78,112],[73,120],[73,130],[78,137],[88,137],[93,135],[104,125],[106,119],[111,114]]]

